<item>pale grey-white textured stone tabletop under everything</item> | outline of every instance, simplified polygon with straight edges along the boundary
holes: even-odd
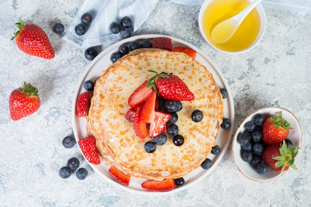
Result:
[[[120,190],[97,175],[80,155],[78,146],[65,149],[72,135],[71,107],[79,77],[90,63],[84,50],[53,33],[55,22],[65,28],[82,0],[1,0],[0,7],[0,206],[273,206],[311,205],[311,16],[298,20],[289,12],[266,8],[267,30],[259,45],[239,55],[216,52],[199,33],[200,6],[159,3],[135,33],[163,34],[200,48],[225,75],[234,100],[235,132],[252,111],[280,106],[300,120],[303,146],[299,170],[276,181],[248,180],[233,162],[231,146],[215,170],[187,190],[167,196],[142,196]],[[138,11],[139,12],[139,11]],[[163,15],[165,13],[165,15]],[[10,41],[17,17],[41,26],[55,48],[55,58],[29,56]],[[66,32],[66,29],[65,29]],[[104,48],[99,47],[100,50]],[[39,110],[19,121],[9,117],[10,92],[31,82],[40,90]],[[84,181],[61,179],[60,167],[77,156],[89,171]]]

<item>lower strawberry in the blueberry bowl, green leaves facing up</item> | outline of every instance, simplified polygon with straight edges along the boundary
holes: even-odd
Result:
[[[297,170],[294,164],[295,157],[298,154],[298,147],[287,146],[283,143],[274,143],[269,145],[263,152],[262,161],[265,162],[271,169],[277,172],[283,172],[290,166]]]

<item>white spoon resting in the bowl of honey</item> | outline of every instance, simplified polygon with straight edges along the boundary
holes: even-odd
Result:
[[[235,14],[233,17],[222,21],[214,27],[211,33],[212,40],[217,44],[227,42],[235,33],[238,26],[242,23],[243,19],[251,12],[262,0],[254,0],[242,11]]]

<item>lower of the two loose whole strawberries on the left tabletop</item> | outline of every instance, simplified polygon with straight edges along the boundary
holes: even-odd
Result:
[[[11,119],[16,121],[28,116],[40,107],[38,89],[23,82],[23,87],[12,91],[8,100]]]

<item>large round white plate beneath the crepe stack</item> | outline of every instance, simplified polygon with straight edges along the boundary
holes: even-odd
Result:
[[[196,59],[201,62],[203,65],[207,67],[207,69],[213,74],[216,83],[218,84],[219,88],[225,88],[228,91],[228,97],[224,99],[225,109],[224,109],[224,118],[229,118],[231,120],[231,128],[228,130],[220,129],[219,135],[217,137],[217,144],[221,148],[221,153],[219,155],[209,155],[208,157],[213,161],[213,165],[210,169],[204,170],[201,166],[195,169],[194,171],[190,172],[188,175],[184,176],[185,184],[182,187],[178,187],[172,191],[169,192],[150,192],[141,187],[141,183],[145,181],[145,179],[140,178],[131,178],[130,185],[128,187],[123,186],[121,184],[118,184],[115,182],[112,177],[110,176],[108,169],[109,166],[105,164],[99,164],[94,165],[90,164],[90,166],[105,180],[107,180],[109,183],[116,185],[124,190],[128,190],[131,192],[135,192],[138,194],[149,194],[149,195],[164,195],[169,193],[175,193],[182,191],[195,183],[202,180],[204,177],[206,177],[219,163],[219,161],[222,159],[222,157],[225,155],[225,152],[229,146],[231,136],[233,133],[233,124],[234,124],[234,105],[233,105],[233,97],[231,95],[231,91],[229,88],[229,85],[222,74],[222,72],[217,68],[215,63],[202,51],[200,51],[198,48],[192,46],[191,44],[169,36],[163,36],[163,35],[140,35],[140,36],[134,36],[127,39],[124,39],[118,43],[115,43],[114,45],[110,46],[103,52],[99,53],[92,62],[88,65],[87,69],[82,74],[78,86],[76,88],[74,98],[73,98],[73,105],[72,105],[72,122],[73,122],[73,130],[75,138],[78,142],[80,139],[84,139],[87,137],[86,132],[86,120],[85,118],[78,118],[76,116],[76,102],[78,99],[79,94],[85,92],[85,89],[83,88],[83,83],[86,80],[95,80],[98,76],[102,74],[102,71],[107,69],[107,67],[111,64],[110,61],[110,55],[113,52],[118,52],[118,48],[121,44],[130,44],[132,41],[139,41],[140,43],[144,40],[152,40],[157,37],[168,37],[171,38],[173,47],[176,46],[187,46],[189,48],[194,49],[197,52]]]

